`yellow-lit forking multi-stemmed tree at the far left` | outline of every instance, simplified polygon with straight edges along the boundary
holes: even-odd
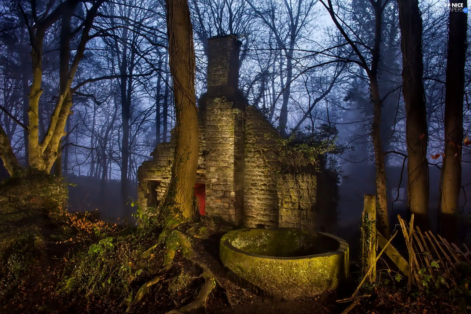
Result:
[[[30,2],[28,9],[19,4],[19,9],[27,26],[32,60],[32,84],[28,101],[28,165],[32,168],[50,171],[59,153],[59,145],[65,133],[65,122],[71,113],[72,93],[71,85],[78,65],[84,56],[85,46],[90,40],[89,31],[93,19],[97,16],[97,10],[104,0],[89,2],[87,15],[75,29],[71,28],[71,18],[74,9],[80,3],[79,0],[65,0],[54,7],[54,2],[49,2],[45,7],[38,6],[36,0]],[[85,5],[85,4],[84,4]],[[38,12],[42,8],[41,12]],[[43,92],[42,87],[42,63],[43,41],[50,27],[61,20],[59,43],[59,93],[57,95],[54,111],[50,117],[49,126],[42,140],[40,139],[40,113],[39,102]],[[71,56],[71,40],[81,32],[75,55]],[[3,160],[8,173],[12,175],[17,169],[21,169],[13,152],[11,143],[3,127],[0,127],[0,157]]]

